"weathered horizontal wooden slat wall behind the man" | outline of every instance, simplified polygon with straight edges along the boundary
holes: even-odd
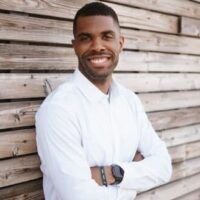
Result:
[[[0,199],[44,199],[34,115],[71,76],[72,19],[91,0],[0,1]],[[137,200],[200,199],[200,1],[102,0],[126,42],[115,77],[137,92],[173,161]]]

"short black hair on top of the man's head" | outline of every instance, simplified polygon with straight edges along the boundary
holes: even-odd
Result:
[[[75,36],[75,31],[76,31],[77,19],[79,17],[98,16],[98,15],[112,17],[114,22],[119,26],[119,20],[118,20],[117,14],[111,7],[101,2],[92,2],[92,3],[85,4],[82,8],[80,8],[77,11],[74,17],[74,22],[73,22],[74,36]]]

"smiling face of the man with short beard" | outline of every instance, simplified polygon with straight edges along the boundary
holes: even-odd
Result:
[[[124,38],[112,17],[79,17],[72,41],[79,70],[92,82],[110,80],[123,43]]]

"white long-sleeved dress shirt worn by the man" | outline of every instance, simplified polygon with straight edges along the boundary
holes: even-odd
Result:
[[[133,200],[171,176],[140,100],[114,80],[106,95],[76,70],[41,105],[36,133],[46,200]],[[145,159],[133,162],[137,150]],[[99,186],[90,167],[111,164],[124,169],[122,182]]]

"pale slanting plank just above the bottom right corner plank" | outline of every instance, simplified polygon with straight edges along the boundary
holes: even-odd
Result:
[[[142,193],[136,200],[173,200],[200,188],[200,174],[181,179],[156,189]],[[178,191],[178,192],[177,192]]]

